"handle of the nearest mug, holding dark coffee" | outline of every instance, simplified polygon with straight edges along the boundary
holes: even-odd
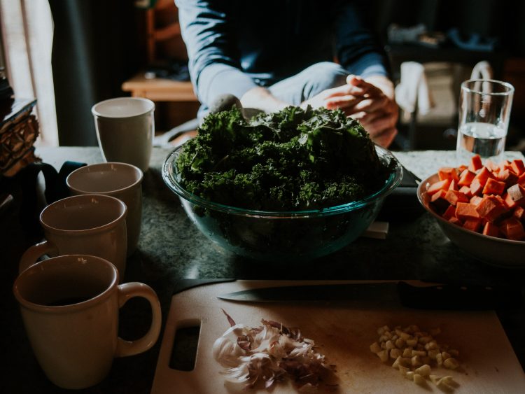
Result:
[[[134,356],[135,354],[142,353],[151,348],[157,342],[160,334],[161,312],[160,302],[155,293],[155,290],[150,286],[139,283],[130,282],[118,285],[118,307],[121,308],[132,297],[144,297],[151,304],[152,319],[151,326],[144,337],[137,339],[136,341],[125,341],[118,337],[118,344],[115,356],[125,357]]]

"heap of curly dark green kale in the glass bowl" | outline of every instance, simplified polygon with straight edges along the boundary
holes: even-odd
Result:
[[[235,106],[207,115],[175,165],[194,195],[270,211],[353,202],[379,190],[391,173],[357,120],[294,106],[251,120]]]

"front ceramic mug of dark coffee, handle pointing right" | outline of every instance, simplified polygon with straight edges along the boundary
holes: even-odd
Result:
[[[98,384],[113,358],[142,353],[157,342],[160,303],[155,291],[139,282],[118,284],[118,270],[92,255],[62,255],[27,268],[15,280],[27,336],[47,377],[62,388]],[[144,297],[152,323],[136,341],[118,337],[118,313],[127,300]]]

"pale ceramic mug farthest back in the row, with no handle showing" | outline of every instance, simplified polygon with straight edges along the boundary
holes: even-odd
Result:
[[[155,134],[155,103],[141,97],[118,97],[94,104],[91,112],[106,162],[149,168]]]

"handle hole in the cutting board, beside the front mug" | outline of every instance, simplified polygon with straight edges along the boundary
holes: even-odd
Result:
[[[177,325],[169,367],[190,372],[195,369],[199,344],[200,321],[190,320]]]

